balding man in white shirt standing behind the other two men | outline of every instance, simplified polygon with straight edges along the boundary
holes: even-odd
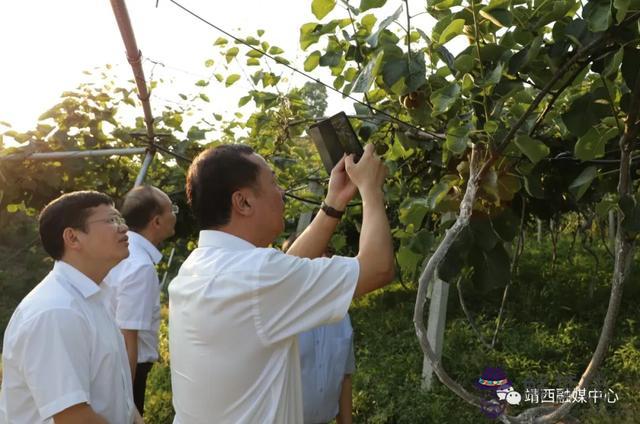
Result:
[[[130,231],[129,257],[113,268],[105,283],[112,291],[109,309],[124,336],[133,376],[133,400],[144,415],[144,392],[151,366],[158,360],[160,281],[157,246],[175,230],[177,206],[160,189],[138,186],[126,194],[120,213]]]

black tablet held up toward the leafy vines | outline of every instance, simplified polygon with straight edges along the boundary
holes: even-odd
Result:
[[[311,125],[308,132],[329,174],[342,159],[343,154],[353,153],[357,161],[364,153],[360,140],[344,112]]]

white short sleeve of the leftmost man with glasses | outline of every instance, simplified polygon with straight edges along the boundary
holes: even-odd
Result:
[[[91,332],[68,309],[46,311],[30,321],[20,355],[23,372],[43,418],[91,403]]]

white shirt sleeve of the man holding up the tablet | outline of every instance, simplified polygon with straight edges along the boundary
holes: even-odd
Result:
[[[358,260],[306,259],[268,249],[253,290],[258,335],[271,344],[343,318],[358,282]]]

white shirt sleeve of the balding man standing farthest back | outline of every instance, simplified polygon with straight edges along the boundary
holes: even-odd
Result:
[[[151,330],[158,296],[158,273],[153,265],[141,265],[117,283],[115,319],[122,330]]]

